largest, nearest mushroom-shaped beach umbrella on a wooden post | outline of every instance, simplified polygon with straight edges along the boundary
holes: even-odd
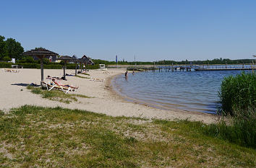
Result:
[[[40,59],[40,68],[41,68],[41,86],[43,81],[43,58],[46,56],[58,56],[58,53],[54,53],[51,50],[46,50],[45,48],[35,48],[34,50],[27,50],[22,53],[23,56],[36,56]]]

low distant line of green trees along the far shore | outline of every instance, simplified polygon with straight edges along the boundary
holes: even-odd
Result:
[[[252,63],[254,59],[239,59],[239,60],[231,60],[231,59],[222,59],[222,58],[216,58],[213,60],[206,60],[206,61],[155,61],[155,65],[180,65],[180,64],[242,64],[242,63]],[[115,61],[103,61],[99,59],[93,59],[93,62],[95,64],[106,64],[106,65],[115,65]],[[133,61],[133,62],[127,62],[127,61],[118,61],[118,65],[153,65],[154,62],[142,62],[142,61]]]

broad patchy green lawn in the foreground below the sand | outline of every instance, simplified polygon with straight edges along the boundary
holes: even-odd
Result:
[[[0,115],[1,167],[255,167],[205,124],[25,105]]]

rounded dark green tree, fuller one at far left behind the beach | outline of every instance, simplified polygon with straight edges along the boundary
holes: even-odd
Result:
[[[21,53],[24,52],[24,48],[13,38],[7,38],[5,41],[7,45],[7,53],[10,58],[21,59]]]

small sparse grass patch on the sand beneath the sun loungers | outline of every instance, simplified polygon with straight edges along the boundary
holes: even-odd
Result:
[[[77,97],[92,98],[82,94],[65,94],[64,92],[59,90],[48,91],[47,89],[41,89],[40,87],[33,87],[30,85],[27,86],[27,89],[30,89],[33,94],[40,94],[41,97],[46,98],[48,100],[56,100],[67,104],[69,104],[72,101],[77,102]]]

